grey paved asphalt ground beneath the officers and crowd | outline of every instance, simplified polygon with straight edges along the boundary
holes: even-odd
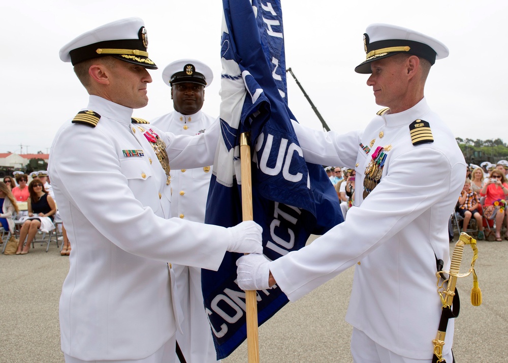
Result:
[[[450,244],[451,249],[453,244]],[[475,265],[483,304],[469,302],[472,277],[459,279],[461,312],[456,321],[457,363],[508,362],[508,241],[478,243]],[[68,257],[52,243],[27,255],[0,255],[0,363],[63,363],[58,299]],[[471,261],[464,248],[461,273]],[[259,329],[261,363],[351,362],[351,326],[344,322],[353,268],[290,303]],[[416,327],[417,328],[417,327]],[[242,344],[224,363],[246,363]]]

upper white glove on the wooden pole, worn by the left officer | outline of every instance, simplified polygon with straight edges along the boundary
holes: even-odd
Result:
[[[228,245],[229,252],[263,253],[261,245],[261,232],[263,228],[254,221],[244,221],[234,227],[228,228],[231,239]]]

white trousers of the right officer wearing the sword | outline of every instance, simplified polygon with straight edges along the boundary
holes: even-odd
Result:
[[[367,337],[363,331],[353,328],[351,336],[351,354],[355,363],[431,363],[432,352],[429,359],[413,359],[403,357],[380,346]],[[444,356],[447,363],[453,362],[452,353]]]

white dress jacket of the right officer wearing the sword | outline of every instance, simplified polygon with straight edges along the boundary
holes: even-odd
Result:
[[[417,119],[430,124],[434,142],[412,144],[408,125]],[[344,223],[271,263],[277,285],[296,300],[360,262],[347,322],[396,354],[430,359],[441,314],[436,257],[449,268],[448,220],[466,171],[454,136],[425,99],[375,117],[363,135],[294,126],[308,162],[356,165],[357,188]],[[371,141],[369,153],[359,146]],[[382,179],[364,200],[365,169],[376,147],[388,145]],[[453,329],[452,319],[444,354],[452,348]]]

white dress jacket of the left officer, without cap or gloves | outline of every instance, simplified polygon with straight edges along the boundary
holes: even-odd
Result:
[[[86,109],[101,115],[97,126],[63,125],[49,160],[73,249],[60,297],[61,348],[83,360],[141,359],[178,326],[167,262],[217,269],[228,233],[167,219],[171,191],[143,135],[151,126],[132,124],[132,109],[97,96]],[[153,131],[166,142],[172,165],[212,163],[220,133],[189,140]]]

